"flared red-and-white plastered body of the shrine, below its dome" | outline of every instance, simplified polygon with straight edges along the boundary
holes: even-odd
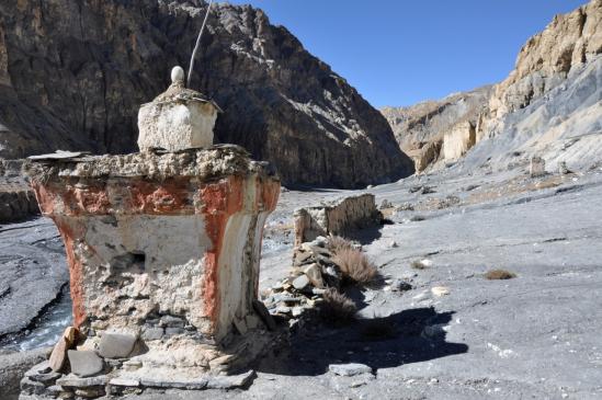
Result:
[[[65,241],[88,342],[128,333],[150,348],[149,365],[207,366],[219,355],[207,344],[261,325],[261,236],[280,193],[265,163],[220,146],[42,160],[27,173]]]

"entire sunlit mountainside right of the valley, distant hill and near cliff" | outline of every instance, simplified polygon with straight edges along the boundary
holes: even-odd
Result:
[[[462,169],[504,170],[533,156],[548,170],[559,162],[589,169],[602,159],[601,53],[602,0],[592,0],[531,37],[514,70],[491,89],[383,114],[417,170],[458,160]],[[456,102],[470,106],[450,113]]]

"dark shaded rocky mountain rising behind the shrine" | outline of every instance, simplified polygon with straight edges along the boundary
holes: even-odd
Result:
[[[130,152],[136,116],[188,67],[202,0],[0,2],[0,157]],[[191,84],[225,113],[217,141],[285,183],[361,186],[413,172],[386,119],[251,7],[214,4]]]

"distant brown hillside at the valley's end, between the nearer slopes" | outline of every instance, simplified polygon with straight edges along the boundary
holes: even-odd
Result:
[[[487,85],[408,107],[385,107],[382,113],[400,148],[413,159],[417,171],[422,171],[438,161],[443,165],[445,136],[470,136],[480,124],[490,94],[491,87]]]

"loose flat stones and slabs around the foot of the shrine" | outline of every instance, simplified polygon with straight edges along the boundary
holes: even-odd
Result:
[[[170,324],[177,321],[168,321]],[[105,395],[141,393],[146,388],[209,389],[245,386],[252,372],[231,376],[203,376],[174,381],[154,378],[124,378],[120,369],[136,372],[143,363],[135,356],[144,352],[144,341],[130,334],[104,333],[98,348],[82,346],[81,334],[72,327],[55,345],[50,358],[31,368],[21,380],[22,399],[36,398],[98,398]],[[228,356],[232,358],[232,355]],[[224,358],[224,357],[219,357]],[[219,362],[218,358],[215,361]]]

